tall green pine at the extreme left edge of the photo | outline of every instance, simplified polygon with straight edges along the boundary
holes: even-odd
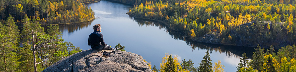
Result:
[[[13,17],[9,15],[6,25],[0,23],[0,29],[0,71],[12,72],[16,70],[18,65],[15,53],[12,51],[15,51],[17,48],[16,43],[19,42],[19,40],[13,39],[19,34]]]

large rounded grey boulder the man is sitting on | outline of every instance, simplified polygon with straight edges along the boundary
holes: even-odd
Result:
[[[42,72],[153,72],[143,57],[120,50],[86,50],[70,55]]]

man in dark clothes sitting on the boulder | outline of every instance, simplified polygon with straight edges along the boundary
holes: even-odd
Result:
[[[101,29],[102,28],[101,28],[100,24],[94,25],[94,32],[92,32],[89,35],[89,41],[87,42],[87,45],[90,45],[91,49],[93,49],[93,50],[118,50],[118,49],[121,49],[121,47],[114,49],[111,46],[105,44],[103,34],[100,33],[100,32],[102,32]]]

